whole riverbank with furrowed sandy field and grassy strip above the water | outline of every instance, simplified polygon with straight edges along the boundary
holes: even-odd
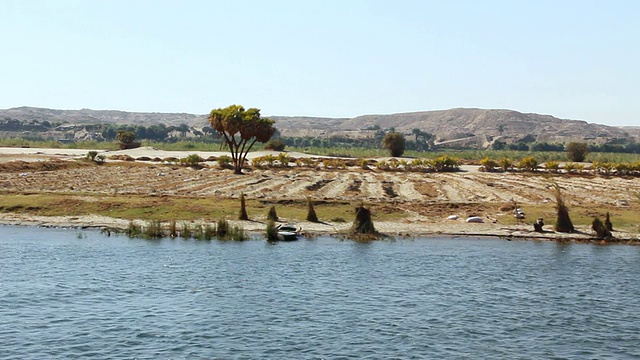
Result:
[[[492,236],[589,241],[594,217],[610,213],[614,236],[639,241],[640,179],[542,173],[486,173],[465,166],[455,173],[346,168],[254,168],[244,175],[215,161],[198,168],[169,161],[190,152],[151,148],[114,151],[104,164],[80,161],[87,150],[0,148],[0,223],[46,227],[124,229],[144,225],[214,223],[228,219],[250,233],[262,233],[271,207],[283,223],[316,235],[349,229],[360,204],[370,208],[376,229],[393,237]],[[224,153],[203,153],[204,157]],[[257,152],[250,158],[277,155]],[[112,159],[115,155],[116,159]],[[310,157],[305,154],[289,156]],[[135,161],[122,161],[128,156]],[[578,233],[551,231],[555,219],[553,184],[562,189]],[[236,222],[239,197],[247,198],[252,221]],[[310,200],[320,223],[304,221]],[[513,217],[517,204],[524,220]],[[447,220],[455,215],[457,219]],[[482,223],[468,223],[475,216]],[[532,223],[544,218],[545,232]]]

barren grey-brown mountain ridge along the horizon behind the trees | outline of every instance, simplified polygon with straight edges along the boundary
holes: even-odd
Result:
[[[208,115],[187,113],[139,113],[118,110],[55,110],[18,107],[0,110],[0,119],[21,121],[68,122],[72,124],[207,125]],[[566,120],[551,115],[520,113],[514,110],[456,108],[398,113],[362,115],[354,118],[323,118],[303,116],[269,116],[283,136],[330,137],[332,135],[366,136],[371,129],[395,128],[411,134],[420,129],[443,140],[469,136],[486,139],[504,138],[516,141],[527,135],[539,142],[593,141],[640,137],[640,128],[615,127]]]

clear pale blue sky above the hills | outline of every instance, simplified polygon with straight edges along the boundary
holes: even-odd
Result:
[[[640,1],[0,0],[0,108],[640,126]]]

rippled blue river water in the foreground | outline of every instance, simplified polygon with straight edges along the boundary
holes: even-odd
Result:
[[[0,227],[2,359],[640,358],[640,247]]]

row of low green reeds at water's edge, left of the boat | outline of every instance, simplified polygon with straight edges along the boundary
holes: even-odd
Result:
[[[112,230],[103,230],[111,232]],[[227,220],[218,220],[215,224],[191,224],[182,222],[178,226],[175,220],[165,226],[160,220],[150,220],[144,225],[139,225],[133,221],[129,227],[123,231],[130,238],[161,239],[165,237],[196,239],[196,240],[248,240],[249,236],[241,226],[230,226]]]

